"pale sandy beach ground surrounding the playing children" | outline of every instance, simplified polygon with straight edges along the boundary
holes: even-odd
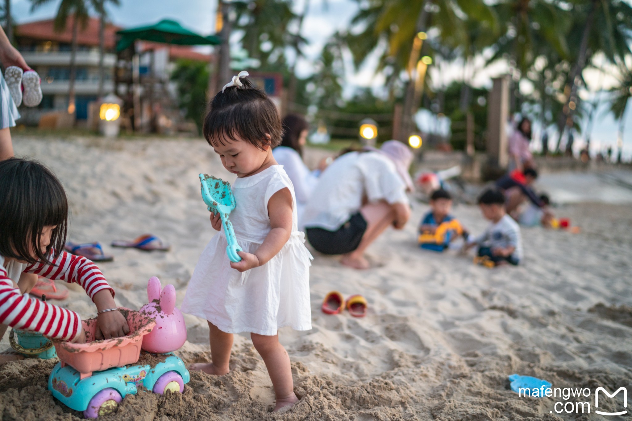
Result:
[[[46,163],[66,187],[69,240],[98,240],[114,255],[99,267],[119,305],[145,304],[150,276],[173,284],[181,304],[197,258],[215,234],[197,174],[234,178],[203,139],[16,136],[14,146],[16,155]],[[413,203],[404,230],[389,229],[370,247],[383,266],[355,271],[313,252],[313,329],[279,334],[301,398],[289,411],[270,412],[272,385],[245,335],[236,337],[228,375],[193,373],[183,395],[129,396],[104,419],[599,419],[595,388],[626,386],[632,393],[632,191],[602,180],[615,189],[606,196],[616,200],[607,200],[599,196],[599,180],[543,175],[552,199],[565,203],[557,215],[571,218],[581,233],[523,228],[525,259],[517,268],[488,270],[454,250],[418,249],[416,224],[427,211],[422,203]],[[454,215],[473,234],[487,225],[476,206],[456,206]],[[109,247],[145,233],[169,241],[171,251]],[[61,305],[93,317],[87,295],[72,288]],[[331,290],[363,294],[368,316],[320,312]],[[186,362],[209,359],[206,322],[186,316],[186,324],[188,342],[176,353]],[[0,345],[8,348],[6,337]],[[78,419],[46,390],[53,364],[0,367],[2,419]],[[580,400],[590,401],[592,413],[558,414],[554,404],[561,398],[518,397],[507,381],[514,373],[547,379],[554,388],[590,388],[592,396]],[[621,406],[621,395],[600,402],[605,410]]]

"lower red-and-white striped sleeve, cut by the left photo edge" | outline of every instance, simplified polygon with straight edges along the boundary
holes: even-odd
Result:
[[[81,318],[76,312],[20,294],[2,266],[0,323],[61,340],[73,340],[82,332]]]

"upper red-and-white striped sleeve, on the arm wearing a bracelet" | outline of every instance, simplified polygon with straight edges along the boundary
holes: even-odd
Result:
[[[52,254],[54,253],[51,252],[51,256]],[[91,299],[94,299],[94,294],[104,289],[110,290],[114,297],[114,290],[91,260],[64,251],[58,258],[51,259],[51,263],[30,264],[24,271],[44,276],[44,278],[78,283]]]

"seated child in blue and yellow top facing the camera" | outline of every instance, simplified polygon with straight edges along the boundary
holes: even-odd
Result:
[[[467,237],[461,223],[450,215],[452,196],[443,189],[430,196],[430,211],[419,225],[419,246],[422,249],[444,251],[459,235]]]

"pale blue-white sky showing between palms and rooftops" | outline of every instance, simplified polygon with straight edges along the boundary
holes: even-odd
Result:
[[[30,12],[28,0],[13,0],[11,3],[12,15],[17,23],[33,20],[52,18],[58,8],[60,0],[51,1],[34,13]],[[120,0],[121,6],[109,6],[112,21],[121,27],[133,27],[143,24],[155,23],[161,19],[169,18],[179,21],[183,26],[207,35],[214,32],[216,0]],[[303,10],[305,0],[295,1],[295,11]],[[628,0],[629,1],[629,0]],[[186,7],[183,7],[186,5]],[[303,37],[307,38],[308,45],[305,48],[307,59],[298,62],[296,68],[299,77],[308,76],[312,71],[311,60],[319,56],[320,50],[327,39],[336,32],[348,28],[351,17],[358,9],[358,3],[353,0],[311,0],[309,13],[303,23]],[[382,78],[374,76],[372,64],[375,61],[368,60],[367,64],[358,71],[348,71],[346,74],[346,92],[352,92],[357,86],[371,86],[379,88]],[[475,83],[477,85],[491,84],[490,78],[498,76],[506,69],[504,66],[492,66],[492,68],[477,73]],[[430,74],[437,80],[445,82],[450,78],[460,78],[461,68],[458,65],[437,69],[429,69]],[[596,74],[586,76],[597,86],[599,80]],[[589,83],[590,83],[589,81]],[[602,106],[592,131],[592,148],[604,149],[611,145],[616,146],[618,122],[614,121]],[[626,133],[624,134],[624,157],[632,157],[632,105],[628,105],[626,112]],[[583,145],[583,138],[576,136],[577,148]]]

